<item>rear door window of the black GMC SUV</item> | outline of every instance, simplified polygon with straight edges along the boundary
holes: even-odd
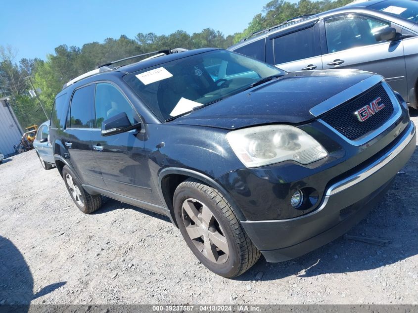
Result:
[[[93,128],[93,85],[77,89],[70,104],[69,127]]]

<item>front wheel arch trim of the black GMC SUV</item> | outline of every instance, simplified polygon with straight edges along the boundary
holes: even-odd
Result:
[[[173,206],[174,191],[176,190],[177,186],[180,183],[182,183],[188,178],[198,179],[208,184],[209,186],[218,189],[222,193],[222,195],[227,199],[230,205],[233,207],[236,217],[240,221],[246,220],[241,210],[236,205],[231,195],[228,193],[228,191],[222,185],[216,182],[214,179],[194,170],[170,167],[170,168],[163,169],[158,175],[158,192],[159,192],[161,201],[163,201],[164,206],[170,212],[171,221],[177,227],[178,225],[176,223],[176,218],[174,216],[174,206]]]

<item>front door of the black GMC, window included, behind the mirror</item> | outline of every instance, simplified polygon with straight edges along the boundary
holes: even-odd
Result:
[[[151,190],[144,134],[134,130],[109,136],[101,135],[102,122],[122,112],[127,114],[132,125],[140,121],[137,111],[120,89],[110,83],[96,84],[97,129],[92,132],[94,158],[100,166],[106,189],[153,203],[153,192],[156,190]]]

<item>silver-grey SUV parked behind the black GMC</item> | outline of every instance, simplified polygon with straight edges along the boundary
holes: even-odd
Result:
[[[360,69],[378,73],[418,108],[418,2],[372,0],[305,15],[228,48],[288,72]]]

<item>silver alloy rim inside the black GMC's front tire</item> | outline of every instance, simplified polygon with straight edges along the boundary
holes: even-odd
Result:
[[[188,236],[204,257],[217,264],[228,260],[225,232],[204,203],[193,198],[186,199],[182,204],[182,219]]]

